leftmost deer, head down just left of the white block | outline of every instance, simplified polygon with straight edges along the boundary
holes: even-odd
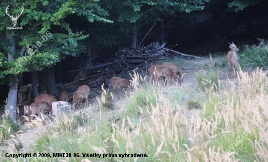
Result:
[[[48,112],[52,112],[52,107],[47,102],[34,102],[30,106],[24,106],[24,116],[29,117],[29,121],[32,121],[37,113],[44,115]]]

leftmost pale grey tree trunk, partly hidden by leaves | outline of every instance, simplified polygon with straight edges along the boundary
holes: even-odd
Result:
[[[8,30],[6,30],[6,38],[11,42],[9,46],[10,52],[8,53],[8,62],[14,60],[13,54],[16,52],[15,38],[10,36]],[[17,121],[17,96],[18,96],[18,76],[13,75],[9,79],[9,91],[7,97],[7,110],[8,116],[11,117],[12,121]]]

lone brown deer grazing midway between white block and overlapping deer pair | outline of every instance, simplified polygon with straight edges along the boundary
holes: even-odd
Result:
[[[126,92],[126,88],[132,89],[132,85],[130,84],[129,81],[127,81],[126,79],[119,78],[119,77],[111,78],[110,83],[113,87],[112,94],[114,97],[116,97],[115,96],[115,88],[116,87],[120,88],[120,98],[122,98],[122,90],[123,89],[125,92]]]

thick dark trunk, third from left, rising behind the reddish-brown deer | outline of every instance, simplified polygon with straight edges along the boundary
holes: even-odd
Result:
[[[46,81],[46,90],[49,95],[57,95],[57,85],[55,80],[55,71],[54,67],[45,69],[45,81]]]

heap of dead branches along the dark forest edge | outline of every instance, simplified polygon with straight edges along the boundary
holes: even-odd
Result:
[[[65,84],[69,86],[74,83],[87,84],[90,87],[100,87],[104,82],[109,86],[109,80],[120,74],[130,73],[133,71],[146,70],[153,62],[166,60],[170,58],[184,59],[203,59],[201,57],[187,55],[165,48],[166,43],[160,45],[159,42],[151,43],[146,47],[138,49],[124,48],[115,54],[113,61],[96,66],[88,67],[72,72],[84,72],[85,76],[77,76],[76,81]]]

